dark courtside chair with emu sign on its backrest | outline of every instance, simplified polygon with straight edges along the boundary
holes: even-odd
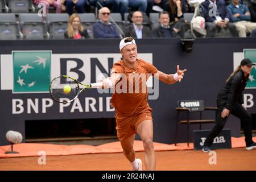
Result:
[[[176,125],[176,134],[175,134],[175,146],[177,144],[177,135],[178,135],[178,129],[179,124],[186,124],[187,125],[187,145],[189,147],[189,125],[190,124],[199,124],[199,129],[201,130],[201,124],[202,123],[214,123],[216,122],[217,115],[217,107],[205,107],[204,101],[202,100],[191,100],[191,101],[178,101],[178,106],[175,108],[177,111],[177,125]],[[203,119],[203,112],[204,111],[214,111],[214,119]],[[187,118],[180,121],[180,114],[184,113],[187,115]],[[191,119],[191,113],[200,113],[199,119]]]

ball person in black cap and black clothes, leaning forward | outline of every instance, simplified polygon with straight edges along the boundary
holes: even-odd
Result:
[[[245,133],[246,150],[256,148],[251,134],[253,118],[243,107],[242,92],[248,82],[252,66],[250,59],[243,59],[236,70],[226,80],[226,85],[217,95],[217,121],[210,131],[203,146],[203,152],[209,152],[213,139],[220,134],[228,120],[229,114],[241,119]]]

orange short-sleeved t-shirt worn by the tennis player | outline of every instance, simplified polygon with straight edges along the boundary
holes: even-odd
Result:
[[[113,65],[112,73],[114,72],[123,73],[121,80],[115,84],[111,100],[116,114],[129,116],[150,109],[146,80],[150,76],[148,74],[154,76],[158,69],[142,59],[137,59],[137,67],[130,69],[120,60]]]

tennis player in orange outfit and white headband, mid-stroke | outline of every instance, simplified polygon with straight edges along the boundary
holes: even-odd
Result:
[[[129,160],[133,169],[141,171],[142,161],[136,159],[133,149],[135,134],[138,133],[145,150],[146,169],[155,170],[156,156],[153,146],[152,109],[147,102],[148,90],[143,90],[143,86],[146,87],[148,74],[166,84],[174,84],[183,79],[187,70],[180,70],[179,65],[177,65],[177,72],[168,75],[158,71],[154,65],[142,59],[137,59],[137,44],[131,37],[122,39],[119,49],[122,60],[113,65],[111,76],[102,80],[104,88],[114,86],[111,104],[115,107],[117,137],[121,142],[123,154]],[[137,75],[137,77],[134,75]],[[129,85],[127,88],[126,84]],[[139,92],[131,92],[131,90],[134,91],[138,87]]]

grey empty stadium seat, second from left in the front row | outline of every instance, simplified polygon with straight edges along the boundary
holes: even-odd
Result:
[[[23,39],[47,39],[47,26],[38,14],[19,14],[20,30]]]

